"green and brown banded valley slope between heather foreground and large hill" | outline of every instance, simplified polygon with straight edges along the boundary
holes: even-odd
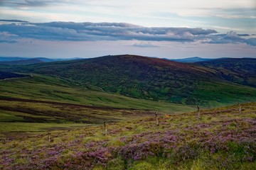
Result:
[[[63,79],[38,74],[2,80],[0,102],[0,132],[65,129],[73,127],[74,123],[85,126],[133,120],[154,114],[154,111],[174,114],[196,110],[195,106],[91,91]]]

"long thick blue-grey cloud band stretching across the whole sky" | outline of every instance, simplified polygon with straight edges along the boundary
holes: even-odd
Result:
[[[19,38],[70,41],[148,40],[193,42],[201,40],[205,43],[244,42],[249,45],[255,45],[254,39],[242,38],[247,35],[238,35],[233,31],[227,34],[216,34],[215,30],[203,28],[149,28],[129,23],[17,22],[9,21],[8,24],[0,25],[0,33],[16,35],[16,40]],[[143,47],[146,45],[135,44],[134,46]]]

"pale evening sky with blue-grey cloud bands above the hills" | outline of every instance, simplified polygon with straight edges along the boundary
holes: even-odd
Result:
[[[0,0],[0,56],[256,57],[255,0]]]

